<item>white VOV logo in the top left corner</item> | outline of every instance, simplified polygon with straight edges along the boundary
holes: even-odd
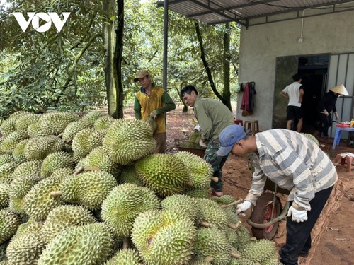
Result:
[[[22,13],[20,12],[13,12],[13,16],[15,16],[18,25],[20,25],[23,32],[27,30],[28,26],[32,21],[32,27],[38,33],[45,33],[47,30],[50,29],[52,23],[54,23],[55,28],[57,28],[58,33],[64,27],[64,24],[67,22],[67,19],[70,16],[70,12],[63,12],[62,15],[64,19],[61,20],[59,15],[55,12],[48,12],[48,13],[35,13],[35,12],[27,12],[28,20],[25,19]],[[46,23],[40,26],[40,19],[44,20]]]

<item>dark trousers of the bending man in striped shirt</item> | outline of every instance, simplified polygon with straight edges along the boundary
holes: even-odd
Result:
[[[279,250],[280,261],[284,265],[297,265],[297,257],[301,252],[308,252],[311,248],[311,231],[314,228],[324,205],[326,204],[332,187],[317,192],[309,204],[311,211],[307,211],[307,221],[302,223],[293,222],[292,217],[287,217],[287,240]]]

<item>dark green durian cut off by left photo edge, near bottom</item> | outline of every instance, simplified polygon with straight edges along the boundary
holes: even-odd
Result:
[[[15,235],[18,226],[21,225],[21,218],[10,208],[0,210],[0,244],[3,244]]]

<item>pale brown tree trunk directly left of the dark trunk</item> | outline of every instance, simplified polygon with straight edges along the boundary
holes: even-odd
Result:
[[[103,41],[105,46],[105,87],[107,90],[108,114],[115,115],[117,109],[117,92],[115,88],[114,51],[115,26],[110,18],[115,16],[114,0],[103,0],[103,11],[106,20],[103,23]]]

